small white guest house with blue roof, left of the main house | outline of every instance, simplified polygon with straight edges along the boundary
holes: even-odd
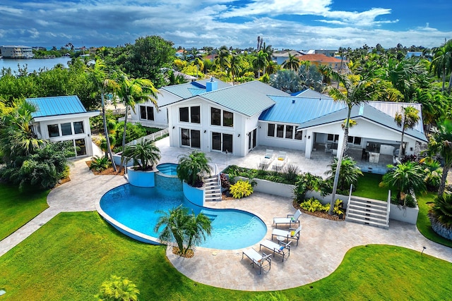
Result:
[[[37,108],[32,113],[31,128],[38,138],[50,142],[68,141],[76,157],[93,156],[90,117],[99,115],[99,111],[86,111],[76,95],[26,100]]]

